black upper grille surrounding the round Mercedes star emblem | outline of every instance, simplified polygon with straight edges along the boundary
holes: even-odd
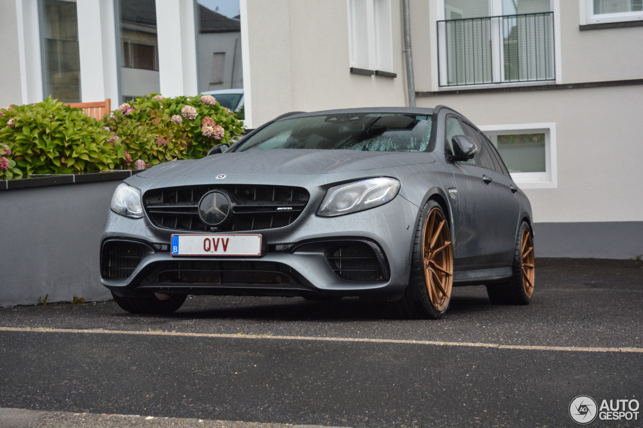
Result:
[[[217,226],[199,217],[199,201],[208,192],[226,193],[230,215]],[[145,211],[158,227],[186,231],[251,231],[288,226],[302,213],[309,200],[304,188],[293,186],[185,186],[148,190],[143,195]]]

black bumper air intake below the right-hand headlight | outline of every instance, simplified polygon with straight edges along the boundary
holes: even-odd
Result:
[[[343,280],[385,281],[385,274],[375,251],[368,244],[342,245],[327,253],[332,270]]]

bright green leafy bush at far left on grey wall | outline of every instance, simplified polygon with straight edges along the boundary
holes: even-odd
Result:
[[[0,143],[12,153],[9,169],[0,170],[0,177],[109,170],[118,165],[119,157],[125,158],[107,141],[111,135],[96,120],[51,97],[1,112]]]

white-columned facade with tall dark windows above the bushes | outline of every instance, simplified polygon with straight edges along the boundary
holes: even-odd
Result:
[[[3,107],[243,84],[240,22],[196,1],[0,0],[0,36]]]

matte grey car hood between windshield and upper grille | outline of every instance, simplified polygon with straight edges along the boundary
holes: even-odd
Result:
[[[361,152],[357,150],[278,149],[222,153],[192,161],[163,163],[137,174],[140,178],[215,177],[219,174],[312,175],[352,173],[395,166],[433,163],[430,153]]]

